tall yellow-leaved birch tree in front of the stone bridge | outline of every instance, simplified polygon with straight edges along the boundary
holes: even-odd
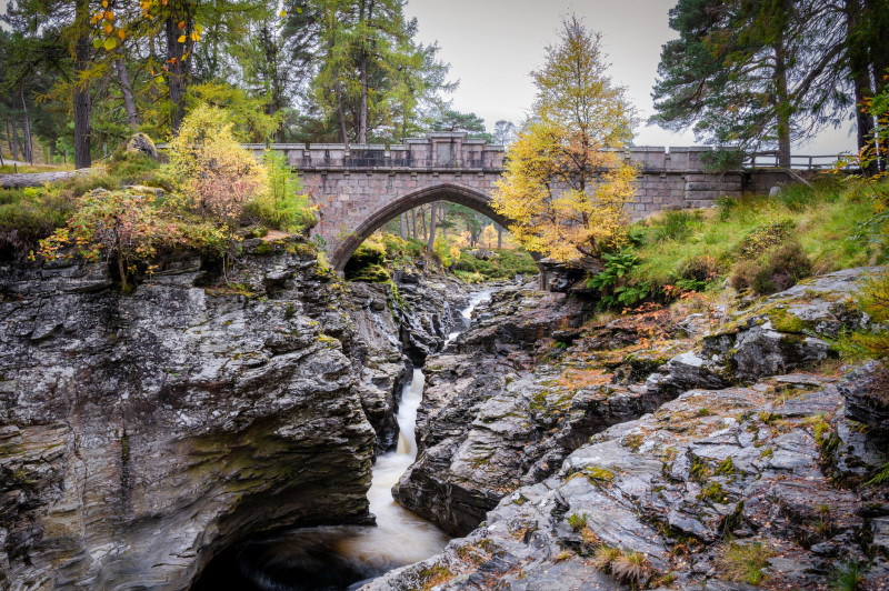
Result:
[[[576,18],[532,73],[531,117],[512,144],[495,210],[528,250],[568,261],[622,240],[638,170],[620,149],[632,137],[626,89],[607,74],[600,38]]]

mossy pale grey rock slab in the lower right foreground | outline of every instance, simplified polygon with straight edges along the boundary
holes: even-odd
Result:
[[[796,418],[778,424],[772,417],[789,402]],[[469,584],[478,580],[487,588],[521,581],[523,589],[543,589],[562,571],[587,577],[590,587],[619,589],[591,560],[601,545],[641,553],[642,582],[650,585],[670,572],[670,588],[748,589],[728,579],[720,558],[731,533],[771,552],[763,575],[773,588],[816,589],[820,573],[863,560],[883,542],[885,518],[868,525],[860,517],[868,493],[833,483],[819,443],[826,435],[810,420],[833,424],[836,435],[841,407],[831,385],[789,400],[768,383],[686,392],[593,435],[558,474],[506,495],[465,539],[366,589],[411,589],[432,575],[441,589],[486,588]],[[836,450],[848,453],[842,441]],[[873,542],[863,534],[868,527]],[[493,557],[509,568],[481,578]],[[878,558],[872,570],[883,569],[886,558]]]

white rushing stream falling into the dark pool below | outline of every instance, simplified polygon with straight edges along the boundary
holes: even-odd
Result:
[[[490,294],[487,290],[470,296],[469,305],[462,310],[465,325],[472,310]],[[451,332],[447,343],[458,334],[460,331]],[[448,543],[444,532],[392,498],[392,487],[417,458],[414,428],[424,383],[422,371],[414,369],[399,402],[398,447],[380,455],[373,467],[368,500],[370,511],[377,515],[377,527],[300,528],[271,539],[246,542],[214,560],[194,591],[353,590],[444,548]]]

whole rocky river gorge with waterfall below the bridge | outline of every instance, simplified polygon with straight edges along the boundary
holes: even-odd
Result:
[[[0,268],[0,589],[747,589],[738,543],[887,580],[885,375],[830,345],[866,269],[611,318],[293,239],[220,272]]]

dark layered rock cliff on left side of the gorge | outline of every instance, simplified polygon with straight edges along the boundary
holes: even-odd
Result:
[[[298,244],[248,247],[234,289],[0,269],[0,588],[184,589],[251,533],[369,519],[348,307]]]

